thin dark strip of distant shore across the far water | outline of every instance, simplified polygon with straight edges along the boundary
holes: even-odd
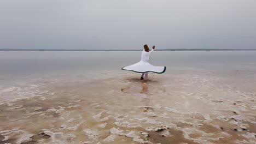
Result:
[[[0,49],[0,51],[141,51],[141,50],[67,50],[67,49]],[[156,51],[256,51],[256,49],[158,49]]]

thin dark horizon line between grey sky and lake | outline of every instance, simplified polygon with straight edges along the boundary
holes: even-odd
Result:
[[[141,50],[0,49],[0,51],[141,51]],[[256,51],[256,49],[157,49],[155,51]]]

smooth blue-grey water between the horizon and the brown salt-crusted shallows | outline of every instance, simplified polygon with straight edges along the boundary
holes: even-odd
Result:
[[[0,79],[24,76],[86,75],[122,67],[140,60],[140,51],[0,51]],[[155,51],[149,61],[173,69],[255,70],[256,51]]]

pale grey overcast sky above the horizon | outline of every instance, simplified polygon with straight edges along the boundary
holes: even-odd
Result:
[[[0,49],[256,49],[255,0],[1,0]]]

